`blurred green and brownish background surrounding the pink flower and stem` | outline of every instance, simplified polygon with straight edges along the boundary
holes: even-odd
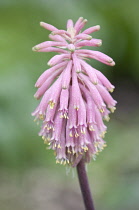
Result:
[[[66,175],[37,136],[31,112],[34,83],[52,53],[31,48],[48,40],[40,21],[65,28],[83,16],[101,25],[100,51],[116,66],[91,64],[116,86],[117,110],[108,123],[108,147],[88,166],[96,209],[139,209],[139,1],[0,1],[0,209],[83,210],[76,170]],[[74,178],[73,178],[74,177]]]

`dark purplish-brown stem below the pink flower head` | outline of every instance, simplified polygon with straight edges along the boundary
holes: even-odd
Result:
[[[77,173],[85,209],[95,210],[83,159],[77,165]]]

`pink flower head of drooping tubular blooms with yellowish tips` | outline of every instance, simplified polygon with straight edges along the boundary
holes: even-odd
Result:
[[[80,17],[74,24],[67,21],[67,30],[41,22],[51,31],[49,38],[33,47],[37,52],[57,52],[37,80],[35,98],[41,102],[32,113],[42,121],[39,135],[48,148],[54,150],[56,162],[75,167],[84,158],[89,162],[106,146],[103,140],[116,101],[111,97],[114,86],[86,60],[92,58],[109,66],[115,63],[109,56],[84,46],[99,47],[100,39],[90,36],[100,26],[82,30],[87,20]],[[82,30],[82,31],[81,31]]]

